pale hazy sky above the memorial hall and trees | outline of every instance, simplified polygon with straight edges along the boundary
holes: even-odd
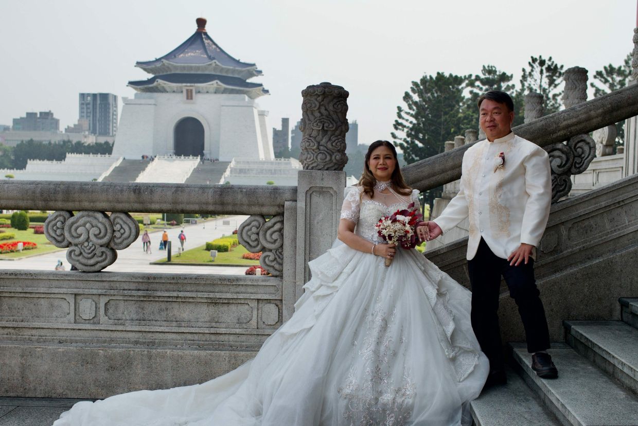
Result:
[[[300,91],[324,81],[350,91],[359,142],[390,138],[404,91],[424,73],[514,74],[530,55],[583,66],[591,77],[633,48],[635,0],[0,0],[0,124],[52,110],[64,129],[79,92],[133,97],[135,68],[167,54],[208,19],[209,35],[255,62],[270,126],[300,119]],[[392,4],[391,4],[392,3]],[[120,103],[120,112],[121,112]]]

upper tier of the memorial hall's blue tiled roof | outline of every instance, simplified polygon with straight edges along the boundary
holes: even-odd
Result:
[[[174,64],[206,64],[216,60],[223,66],[232,68],[251,68],[255,64],[237,61],[227,54],[215,43],[205,32],[196,31],[188,40],[184,41],[177,48],[154,61],[138,61],[138,66],[154,66],[161,64],[165,60]]]

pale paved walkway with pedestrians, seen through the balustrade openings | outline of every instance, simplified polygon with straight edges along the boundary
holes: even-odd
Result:
[[[222,235],[230,235],[235,228],[248,218],[248,216],[226,216],[218,219],[210,219],[197,225],[184,225],[181,228],[168,229],[168,239],[172,242],[172,256],[177,255],[179,240],[177,235],[182,229],[186,234],[184,249],[192,249],[202,246],[207,241],[214,240]],[[228,224],[224,224],[228,223]],[[152,254],[144,253],[142,250],[142,233],[131,246],[124,250],[117,251],[117,260],[113,265],[107,267],[109,272],[159,272],[170,274],[224,274],[243,275],[247,267],[208,267],[208,266],[187,266],[187,265],[149,265],[151,261],[166,258],[166,251],[159,251],[159,240],[161,231],[151,235]],[[0,269],[27,269],[27,270],[53,270],[57,260],[62,260],[66,270],[71,269],[70,263],[66,261],[66,250],[54,253],[42,254],[20,260],[0,261]],[[0,423],[1,424],[1,423]]]

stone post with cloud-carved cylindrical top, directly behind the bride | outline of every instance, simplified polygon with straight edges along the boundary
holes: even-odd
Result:
[[[348,91],[338,85],[309,85],[301,92],[301,155],[297,182],[297,273],[295,298],[310,278],[308,261],[332,246],[346,175]]]

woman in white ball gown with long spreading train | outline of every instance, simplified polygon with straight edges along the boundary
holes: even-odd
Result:
[[[376,141],[359,185],[346,188],[339,240],[309,263],[295,314],[253,360],[202,385],[78,402],[54,426],[461,424],[489,369],[470,291],[374,228],[418,205],[417,194],[394,146]]]

